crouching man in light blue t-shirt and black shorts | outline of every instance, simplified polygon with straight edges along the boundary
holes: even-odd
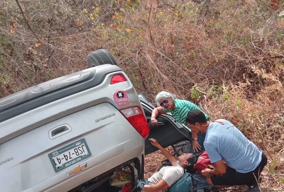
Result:
[[[208,184],[220,188],[230,185],[254,188],[257,185],[256,179],[267,164],[267,158],[231,122],[225,119],[207,121],[200,110],[188,112],[186,122],[197,134],[206,133],[204,148],[211,163],[215,164],[215,169],[201,172]]]

